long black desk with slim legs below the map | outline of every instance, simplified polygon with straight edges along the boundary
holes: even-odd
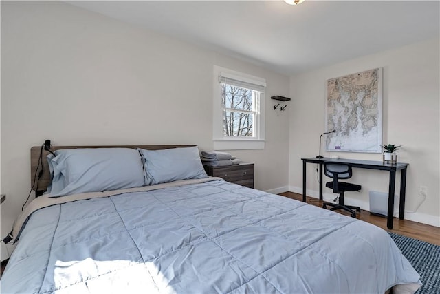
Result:
[[[322,200],[322,165],[325,161],[344,162],[350,164],[352,167],[360,169],[378,169],[381,171],[390,172],[390,182],[388,185],[388,213],[386,220],[386,227],[393,229],[393,214],[394,214],[394,193],[396,182],[396,171],[400,170],[400,203],[399,203],[399,219],[403,220],[405,215],[405,190],[406,190],[406,168],[408,163],[397,162],[394,164],[384,163],[382,161],[372,160],[356,160],[356,159],[333,159],[333,158],[301,158],[303,160],[303,202],[305,202],[306,190],[306,164],[316,163],[319,165],[319,200]]]

